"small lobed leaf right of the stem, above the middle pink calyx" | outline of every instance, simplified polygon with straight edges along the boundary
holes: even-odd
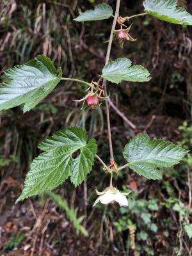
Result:
[[[102,70],[102,77],[112,83],[121,81],[146,82],[150,80],[148,70],[141,65],[131,66],[131,60],[119,58],[110,61]]]

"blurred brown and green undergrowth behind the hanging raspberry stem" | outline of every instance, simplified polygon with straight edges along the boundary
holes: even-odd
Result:
[[[113,0],[1,0],[0,74],[37,54],[49,56],[65,77],[97,79],[105,62],[112,20],[86,22],[73,19],[94,4]],[[178,4],[192,12],[192,3]],[[141,0],[122,0],[120,13],[143,12]],[[150,70],[148,83],[108,84],[113,102],[111,129],[118,164],[124,164],[125,143],[138,132],[192,148],[192,41],[190,27],[152,17],[133,20],[131,35],[120,49],[114,41],[111,59],[126,56]],[[77,189],[65,182],[54,193],[15,205],[29,165],[39,154],[36,146],[69,125],[86,128],[106,162],[108,132],[104,106],[83,109],[74,99],[83,97],[82,85],[62,82],[29,113],[21,108],[0,113],[0,254],[28,255],[192,255],[191,166],[188,154],[163,180],[145,180],[124,170],[115,177],[119,189],[133,189],[129,207],[99,205],[93,209],[97,189],[109,182],[96,162],[88,180]],[[135,125],[132,129],[129,118]]]

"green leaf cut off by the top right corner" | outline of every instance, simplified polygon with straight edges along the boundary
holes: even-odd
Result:
[[[145,0],[145,12],[157,19],[174,24],[192,25],[192,15],[182,7],[177,7],[177,0]]]

